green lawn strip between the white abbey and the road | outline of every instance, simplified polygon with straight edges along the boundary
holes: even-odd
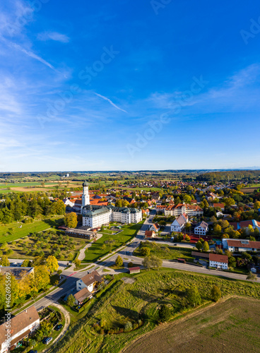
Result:
[[[101,249],[102,245],[105,244],[105,241],[109,240],[110,238],[114,239],[114,243],[112,244],[111,250],[117,249],[119,246],[122,246],[124,243],[132,239],[138,230],[143,225],[144,221],[139,222],[137,225],[124,225],[122,227],[123,232],[119,234],[103,234],[100,239],[95,241],[88,251],[85,251],[85,259],[84,262],[93,263],[98,261],[98,259],[102,256],[105,256],[107,253],[110,252],[110,247],[106,246],[106,249]]]

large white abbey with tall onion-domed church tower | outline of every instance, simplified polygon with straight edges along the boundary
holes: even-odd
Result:
[[[121,223],[141,222],[142,211],[137,208],[90,205],[88,185],[86,181],[83,183],[81,213],[84,227],[97,228],[113,221]]]

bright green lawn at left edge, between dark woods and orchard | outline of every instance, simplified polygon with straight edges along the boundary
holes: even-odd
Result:
[[[8,225],[0,225],[0,243],[13,241],[26,237],[29,233],[42,232],[45,229],[56,227],[62,222],[64,216],[54,216],[46,220],[34,220],[33,223],[13,222]],[[19,226],[21,228],[18,228]],[[12,228],[11,231],[9,229]],[[6,234],[11,232],[11,234]]]

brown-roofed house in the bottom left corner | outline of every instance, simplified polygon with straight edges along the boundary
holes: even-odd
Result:
[[[35,306],[30,306],[11,318],[9,327],[7,323],[8,321],[0,325],[0,353],[15,349],[20,341],[37,330],[40,326],[40,317]],[[8,347],[8,335],[11,339],[10,347]]]

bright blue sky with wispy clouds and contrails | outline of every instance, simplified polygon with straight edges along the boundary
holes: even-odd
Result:
[[[0,172],[259,166],[259,16],[250,0],[1,1]]]

